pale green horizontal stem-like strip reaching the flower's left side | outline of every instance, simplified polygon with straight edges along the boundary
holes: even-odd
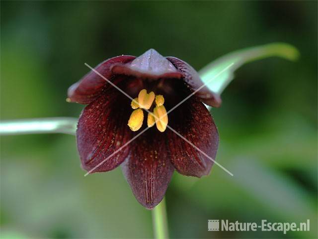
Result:
[[[29,133],[67,133],[75,134],[77,118],[55,117],[42,119],[2,120],[0,122],[1,135],[29,134]]]

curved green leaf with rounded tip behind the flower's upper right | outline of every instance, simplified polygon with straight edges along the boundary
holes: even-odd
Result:
[[[295,61],[299,57],[299,51],[287,43],[270,43],[234,51],[222,56],[208,64],[199,71],[203,82],[213,92],[221,94],[234,79],[234,72],[243,64],[260,60],[266,57],[277,56]],[[229,67],[233,64],[231,67]],[[225,68],[227,70],[224,71]],[[222,74],[220,72],[224,71]]]

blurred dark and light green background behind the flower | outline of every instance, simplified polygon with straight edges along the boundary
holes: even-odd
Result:
[[[199,70],[288,42],[298,62],[240,68],[213,109],[218,166],[174,173],[171,238],[317,238],[317,1],[1,1],[1,119],[71,116],[68,87],[120,54],[155,48]],[[83,177],[75,137],[1,136],[1,238],[152,238],[120,168]],[[310,232],[208,232],[207,220],[305,222]]]

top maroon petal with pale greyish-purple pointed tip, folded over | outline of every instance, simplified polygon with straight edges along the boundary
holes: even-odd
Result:
[[[112,68],[114,74],[133,75],[142,78],[181,78],[182,74],[155,49],[146,51],[132,62]]]

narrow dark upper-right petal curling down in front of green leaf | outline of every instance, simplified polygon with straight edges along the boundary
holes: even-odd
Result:
[[[190,86],[192,91],[195,91],[204,85],[199,74],[188,63],[176,57],[167,57],[167,59],[183,74],[184,81]],[[221,97],[210,91],[206,86],[200,89],[195,95],[209,106],[221,106]]]

